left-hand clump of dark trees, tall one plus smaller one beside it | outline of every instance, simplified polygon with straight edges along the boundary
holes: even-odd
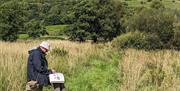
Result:
[[[43,20],[36,19],[26,1],[11,0],[0,5],[0,37],[5,41],[15,41],[18,34],[26,33],[36,38],[47,34]],[[32,17],[34,16],[34,17]]]

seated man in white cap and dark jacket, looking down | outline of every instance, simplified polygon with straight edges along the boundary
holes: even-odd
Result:
[[[50,85],[48,76],[55,70],[48,69],[45,55],[49,49],[49,43],[43,41],[38,48],[29,51],[26,91],[42,91],[43,86]]]

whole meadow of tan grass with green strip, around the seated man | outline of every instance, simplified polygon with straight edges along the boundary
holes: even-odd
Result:
[[[0,91],[24,91],[28,50],[40,42],[0,42]],[[117,51],[111,43],[49,42],[49,68],[64,73],[68,91],[180,90],[178,51]],[[51,86],[44,91],[52,91]]]

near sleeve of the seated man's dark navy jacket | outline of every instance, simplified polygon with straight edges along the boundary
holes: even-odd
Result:
[[[51,72],[51,70],[43,67],[41,65],[41,54],[38,52],[35,52],[33,55],[33,65],[34,68],[36,69],[37,72],[39,73],[44,73],[44,74],[49,74]]]

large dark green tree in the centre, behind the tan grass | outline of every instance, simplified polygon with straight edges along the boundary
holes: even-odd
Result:
[[[123,32],[122,11],[121,3],[114,0],[82,0],[74,7],[76,20],[68,33],[71,39],[112,40]]]

